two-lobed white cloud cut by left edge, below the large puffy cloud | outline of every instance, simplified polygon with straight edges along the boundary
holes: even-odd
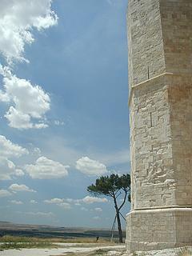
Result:
[[[13,175],[22,176],[24,173],[14,165],[9,158],[19,158],[28,154],[28,150],[10,142],[5,136],[0,135],[0,180],[9,180]]]

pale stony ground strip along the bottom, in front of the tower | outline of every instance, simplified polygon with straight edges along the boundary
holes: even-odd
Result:
[[[98,244],[57,244],[58,248],[3,250],[0,256],[192,256],[192,246],[127,253],[125,246],[99,246]]]

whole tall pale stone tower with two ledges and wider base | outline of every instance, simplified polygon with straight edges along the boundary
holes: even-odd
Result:
[[[129,0],[128,250],[192,245],[192,0]]]

